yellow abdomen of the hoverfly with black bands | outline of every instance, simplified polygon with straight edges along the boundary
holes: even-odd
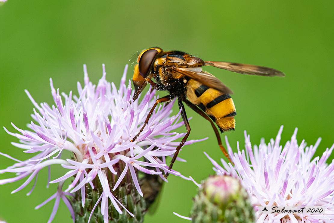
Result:
[[[234,130],[236,112],[229,94],[223,94],[194,79],[190,79],[186,87],[187,99],[203,110],[218,125],[221,132]]]

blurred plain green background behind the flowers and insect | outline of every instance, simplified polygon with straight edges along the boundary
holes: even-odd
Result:
[[[17,1],[1,4],[1,152],[20,160],[28,157],[10,144],[17,141],[2,128],[15,132],[10,122],[26,129],[36,102],[53,104],[49,78],[55,88],[76,92],[83,83],[82,64],[97,83],[106,64],[107,80],[118,83],[131,55],[151,46],[183,50],[205,60],[262,65],[281,70],[285,78],[264,78],[207,69],[232,91],[237,116],[235,132],[225,133],[233,149],[243,131],[253,144],[268,142],[284,125],[282,142],[298,127],[299,142],[322,142],[320,155],[334,142],[333,59],[334,1]],[[127,77],[131,78],[133,66]],[[159,95],[164,95],[160,92]],[[175,169],[196,181],[213,174],[203,151],[219,161],[222,153],[209,123],[187,109],[190,138],[209,137],[187,146]],[[174,113],[177,112],[175,107]],[[185,128],[180,128],[185,131]],[[224,136],[222,136],[224,137]],[[330,157],[330,161],[333,154]],[[1,169],[13,162],[1,156]],[[329,161],[329,162],[330,162]],[[64,174],[52,167],[51,178]],[[4,174],[1,178],[13,177]],[[32,183],[10,194],[24,181],[1,186],[2,219],[10,223],[47,222],[53,202],[34,207],[51,196],[56,185],[45,188],[46,171],[38,177],[35,191],[26,197]],[[145,222],[187,222],[173,211],[188,215],[196,186],[170,176],[157,212]],[[53,222],[71,222],[65,205]]]

